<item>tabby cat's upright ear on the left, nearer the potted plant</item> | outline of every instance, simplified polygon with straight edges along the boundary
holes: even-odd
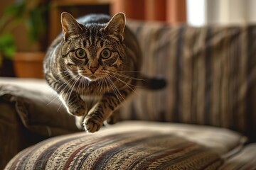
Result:
[[[82,31],[78,21],[67,12],[61,13],[61,26],[63,28],[64,39],[66,40],[69,36],[78,34]]]

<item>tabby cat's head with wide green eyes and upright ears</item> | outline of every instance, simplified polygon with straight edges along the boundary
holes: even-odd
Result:
[[[122,70],[124,13],[117,13],[107,23],[90,21],[82,24],[70,13],[63,12],[61,24],[63,64],[73,77],[96,81],[109,76],[111,72]]]

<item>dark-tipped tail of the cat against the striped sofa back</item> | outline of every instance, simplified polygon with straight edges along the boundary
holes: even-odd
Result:
[[[143,89],[158,90],[166,86],[166,80],[161,77],[144,77],[137,81],[137,86]]]

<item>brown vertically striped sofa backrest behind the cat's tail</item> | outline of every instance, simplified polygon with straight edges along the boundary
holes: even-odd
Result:
[[[167,87],[139,89],[122,119],[213,125],[255,137],[256,26],[128,24],[142,47],[142,73],[164,77]]]

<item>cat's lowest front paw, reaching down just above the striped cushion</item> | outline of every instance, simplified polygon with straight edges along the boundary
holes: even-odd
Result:
[[[83,122],[84,128],[85,130],[87,130],[87,132],[96,132],[100,130],[102,124],[102,119],[99,118],[99,113],[97,113],[97,111],[95,111],[95,113],[87,115]]]

